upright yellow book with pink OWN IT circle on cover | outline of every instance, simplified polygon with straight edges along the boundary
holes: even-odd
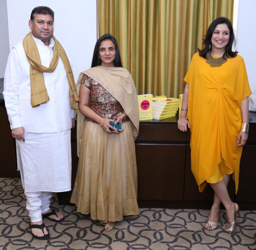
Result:
[[[139,103],[139,120],[152,120],[153,119],[153,95],[145,94],[138,95]]]

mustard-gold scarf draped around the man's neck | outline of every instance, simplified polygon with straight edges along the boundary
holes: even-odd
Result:
[[[50,100],[47,90],[45,88],[43,73],[54,72],[54,70],[58,65],[58,61],[60,57],[64,64],[67,77],[68,77],[70,106],[71,108],[75,108],[76,101],[79,101],[79,97],[76,91],[76,85],[75,85],[72,69],[71,69],[65,50],[63,49],[59,41],[54,36],[52,36],[52,39],[54,40],[55,44],[53,46],[53,58],[50,63],[50,67],[48,68],[41,64],[38,48],[32,37],[32,33],[29,32],[23,40],[22,44],[23,44],[28,62],[30,63],[30,86],[31,86],[30,103],[31,103],[31,106],[34,108]]]

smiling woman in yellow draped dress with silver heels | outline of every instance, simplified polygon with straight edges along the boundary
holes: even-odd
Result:
[[[248,138],[248,83],[244,60],[232,51],[234,32],[224,17],[215,19],[193,56],[186,82],[178,129],[191,131],[191,170],[202,192],[209,183],[214,201],[205,230],[218,227],[220,204],[226,209],[226,232],[236,228],[238,204],[231,201],[230,175],[238,190],[242,146]],[[186,114],[188,112],[188,120]]]

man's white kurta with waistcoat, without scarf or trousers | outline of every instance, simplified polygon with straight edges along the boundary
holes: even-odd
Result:
[[[41,40],[34,40],[41,64],[49,67],[54,41],[51,39],[47,47]],[[50,100],[32,108],[29,69],[21,41],[10,52],[3,94],[11,128],[24,127],[25,131],[25,142],[18,142],[23,188],[26,192],[69,191],[70,129],[74,110],[70,108],[66,71],[59,58],[54,72],[43,73]]]

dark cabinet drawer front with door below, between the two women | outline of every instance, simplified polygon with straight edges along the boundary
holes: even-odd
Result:
[[[135,141],[139,202],[183,200],[185,143],[186,134],[176,124],[140,124]]]

